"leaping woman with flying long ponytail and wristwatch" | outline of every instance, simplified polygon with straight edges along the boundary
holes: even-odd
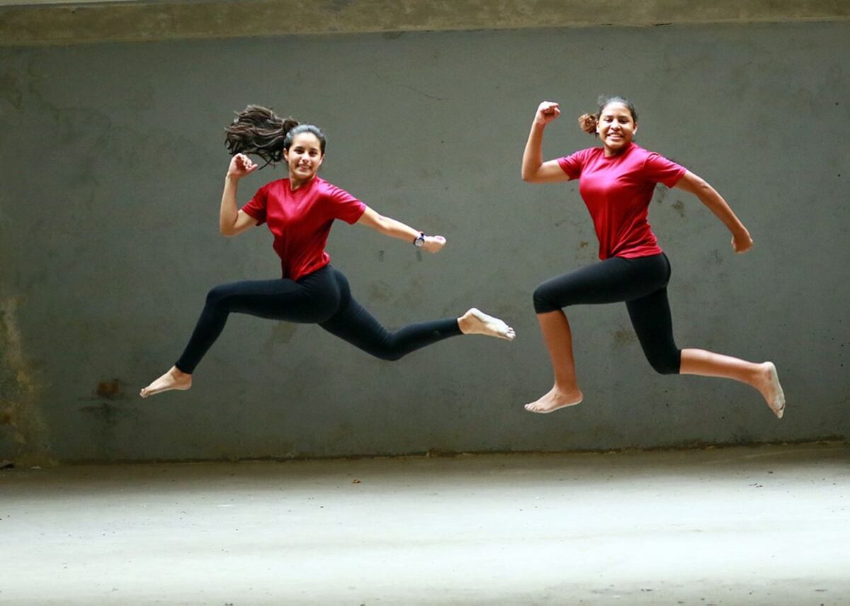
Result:
[[[192,385],[195,366],[224,329],[231,312],[295,323],[314,323],[372,356],[398,360],[417,349],[457,334],[485,334],[512,340],[513,329],[474,307],[461,317],[416,323],[389,332],[351,296],[342,272],[329,265],[325,252],[334,220],[371,227],[437,253],[445,237],[424,232],[377,214],[348,192],[316,173],[325,159],[325,134],[312,124],[280,118],[262,106],[248,106],[227,128],[233,155],[224,178],[218,214],[219,231],[237,236],[253,226],[269,225],[282,277],[217,286],[207,302],[189,343],[177,363],[141,390],[141,397]],[[248,157],[266,164],[286,162],[289,177],[259,188],[241,209],[236,205],[239,180],[258,169]],[[264,166],[264,165],[263,165]]]

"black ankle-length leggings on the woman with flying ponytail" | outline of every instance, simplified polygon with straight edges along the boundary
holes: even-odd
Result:
[[[337,337],[382,360],[398,360],[461,329],[454,317],[411,324],[391,333],[351,296],[348,280],[331,266],[297,281],[249,280],[222,284],[207,294],[207,304],[189,344],[175,366],[191,374],[224,329],[228,314],[247,313],[270,320],[319,324]]]

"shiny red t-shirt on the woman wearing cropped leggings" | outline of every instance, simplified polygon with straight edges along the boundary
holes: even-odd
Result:
[[[590,147],[558,158],[570,179],[579,179],[581,199],[593,219],[599,258],[648,257],[660,254],[649,227],[649,201],[656,183],[675,186],[686,169],[632,143],[605,157],[604,147]]]

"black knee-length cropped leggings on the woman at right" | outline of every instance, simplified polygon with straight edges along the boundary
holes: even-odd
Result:
[[[638,259],[611,257],[542,283],[534,293],[534,308],[547,313],[570,305],[626,301],[649,364],[661,374],[678,374],[682,350],[673,340],[669,281],[670,261],[664,253]]]

